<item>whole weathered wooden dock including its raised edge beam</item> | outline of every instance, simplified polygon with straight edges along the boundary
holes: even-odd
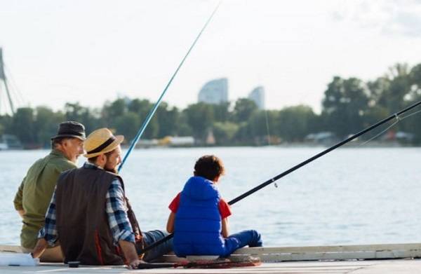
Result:
[[[20,247],[0,246],[0,252],[20,252]],[[0,273],[421,273],[421,244],[343,245],[321,247],[253,247],[239,249],[236,258],[259,256],[260,266],[223,269],[159,268],[128,270],[123,266],[80,266],[62,263],[39,266],[0,266]],[[180,261],[167,255],[164,261]]]

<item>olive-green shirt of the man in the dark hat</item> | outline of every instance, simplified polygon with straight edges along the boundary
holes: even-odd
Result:
[[[24,210],[23,226],[20,233],[20,245],[34,248],[39,230],[44,226],[44,219],[51,196],[61,172],[75,168],[76,165],[65,158],[61,151],[53,149],[51,153],[37,160],[26,174],[16,193],[16,210]]]

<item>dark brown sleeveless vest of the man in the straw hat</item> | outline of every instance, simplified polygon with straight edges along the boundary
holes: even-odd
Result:
[[[63,172],[55,190],[58,240],[65,262],[86,265],[123,265],[121,249],[113,244],[105,212],[105,196],[114,179],[121,177],[99,168],[81,167]],[[142,234],[126,196],[128,219],[136,241]]]

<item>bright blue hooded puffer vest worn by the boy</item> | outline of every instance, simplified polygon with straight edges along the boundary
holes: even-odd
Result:
[[[203,177],[191,177],[187,181],[175,213],[177,256],[225,254],[219,201],[220,194],[212,181]]]

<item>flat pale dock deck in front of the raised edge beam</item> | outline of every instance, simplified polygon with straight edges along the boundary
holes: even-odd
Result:
[[[123,266],[80,266],[68,268],[62,264],[41,263],[40,266],[0,266],[2,274],[17,273],[326,273],[326,274],[388,274],[421,273],[421,260],[382,261],[302,261],[262,263],[260,266],[224,269],[183,269],[159,268],[148,270],[128,270]]]

